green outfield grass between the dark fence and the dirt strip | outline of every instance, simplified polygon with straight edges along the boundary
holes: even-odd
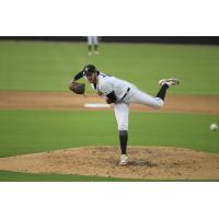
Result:
[[[89,62],[155,93],[157,81],[181,79],[175,94],[219,94],[219,46],[101,44],[89,57],[85,43],[0,42],[0,90],[67,91]],[[90,88],[89,88],[89,91]]]

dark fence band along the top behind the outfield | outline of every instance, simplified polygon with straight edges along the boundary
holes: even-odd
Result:
[[[85,36],[1,36],[0,41],[54,41],[85,42]],[[219,36],[101,36],[101,42],[161,43],[161,44],[212,44],[219,45]]]

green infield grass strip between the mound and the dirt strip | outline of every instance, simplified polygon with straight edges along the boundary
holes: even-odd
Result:
[[[113,112],[0,111],[0,157],[84,146],[118,145]],[[219,116],[130,113],[129,145],[219,153]]]

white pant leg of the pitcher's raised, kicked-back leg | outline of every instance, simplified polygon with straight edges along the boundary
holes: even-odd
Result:
[[[138,90],[130,97],[130,103],[143,104],[153,108],[161,108],[163,106],[163,100],[160,97],[154,97],[146,92]]]

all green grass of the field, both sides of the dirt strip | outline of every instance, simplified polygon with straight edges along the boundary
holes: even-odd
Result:
[[[0,90],[68,91],[71,77],[92,62],[151,93],[157,92],[160,78],[174,76],[182,85],[170,93],[219,95],[218,46],[103,44],[100,51],[89,57],[83,43],[0,41]],[[211,123],[219,124],[219,115],[131,112],[129,145],[219,153],[219,135],[209,131]],[[0,110],[0,157],[118,145],[113,112]],[[0,181],[125,180],[0,171]]]

